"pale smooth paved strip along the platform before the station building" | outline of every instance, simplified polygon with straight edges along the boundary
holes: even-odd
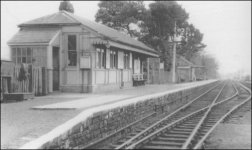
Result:
[[[182,90],[191,86],[199,86],[206,83],[212,82],[212,80],[190,82],[182,84],[155,84],[146,85],[140,87],[133,87],[130,89],[117,90],[109,93],[102,93],[100,95],[90,95],[89,97],[81,98],[78,100],[72,100],[68,102],[60,102],[50,105],[35,106],[32,109],[85,109],[104,104],[109,104],[133,97],[142,95],[151,95],[153,93],[164,92],[168,90]]]

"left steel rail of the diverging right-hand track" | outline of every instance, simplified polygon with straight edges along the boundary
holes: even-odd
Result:
[[[223,87],[224,87],[224,86],[223,86]],[[218,102],[218,103],[214,103],[213,106],[219,105],[219,104],[221,104],[221,103],[224,103],[224,102],[230,100],[231,98],[233,98],[233,97],[236,96],[236,95],[237,95],[237,91],[236,91],[236,93],[235,93],[234,95],[232,95],[231,97],[226,98],[225,100],[220,101],[220,102]],[[185,117],[183,117],[183,118],[181,118],[181,119],[179,119],[179,120],[177,120],[177,121],[175,121],[175,122],[173,122],[173,123],[170,123],[170,124],[166,125],[165,127],[162,127],[161,129],[155,131],[154,133],[151,133],[151,134],[148,135],[147,137],[144,137],[143,139],[137,141],[136,143],[133,143],[132,145],[126,147],[126,149],[133,149],[133,148],[137,147],[139,144],[145,143],[146,140],[148,140],[149,138],[152,138],[152,136],[155,136],[155,135],[158,134],[159,132],[164,132],[163,130],[169,129],[169,128],[172,127],[174,124],[177,124],[178,122],[181,122],[182,120],[185,120],[186,118],[189,119],[189,118],[191,118],[191,117],[194,115],[194,113],[199,113],[199,112],[201,112],[202,110],[208,109],[209,107],[210,107],[210,106],[206,106],[206,107],[204,107],[204,108],[202,108],[202,109],[200,109],[200,110],[198,110],[198,111],[192,112],[191,114],[189,114],[189,115],[187,115],[187,116],[185,116]]]

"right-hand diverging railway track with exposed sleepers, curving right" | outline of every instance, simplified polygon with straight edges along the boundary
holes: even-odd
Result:
[[[151,132],[151,134],[145,135],[144,132],[142,132],[131,138],[131,140],[126,142],[119,141],[123,144],[119,146],[113,144],[114,147],[110,148],[184,149],[199,147],[199,145],[201,145],[199,143],[202,143],[202,139],[205,139],[211,133],[216,125],[224,119],[223,117],[230,113],[230,110],[233,111],[232,108],[240,106],[242,103],[244,103],[244,101],[249,101],[247,97],[250,94],[244,93],[244,91],[242,92],[242,88],[239,87],[237,89],[236,86],[234,86],[236,92],[232,96],[224,100],[219,100],[224,86],[211,102],[210,106],[206,106],[200,110],[194,111],[182,118],[180,118],[180,116],[178,117],[180,119],[175,119],[171,122],[168,121],[169,123],[167,123],[166,120],[161,120],[163,122],[162,125],[159,126],[154,132]],[[247,97],[244,97],[244,94],[246,94]],[[237,97],[237,95],[239,96]],[[166,123],[164,123],[165,121]],[[147,130],[153,129],[149,127]],[[138,140],[136,140],[137,137]]]

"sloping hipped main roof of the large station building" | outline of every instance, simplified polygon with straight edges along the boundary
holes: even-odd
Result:
[[[138,47],[145,51],[149,51],[149,52],[157,54],[157,51],[155,51],[154,49],[146,46],[140,41],[137,41],[127,35],[124,35],[118,32],[115,29],[90,21],[83,17],[79,17],[77,15],[74,15],[66,11],[59,11],[52,15],[47,15],[41,18],[37,18],[31,21],[22,23],[19,26],[22,27],[22,26],[34,26],[34,25],[76,25],[76,24],[81,24],[101,34],[102,36],[108,38],[109,40],[127,44],[133,47]]]

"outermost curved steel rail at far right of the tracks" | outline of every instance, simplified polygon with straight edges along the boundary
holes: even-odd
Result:
[[[251,100],[251,90],[248,89],[246,86],[242,85],[241,83],[239,83],[239,84],[250,93],[250,96],[244,102],[236,105],[231,110],[229,110],[224,116],[222,116],[214,124],[214,126],[201,138],[201,140],[193,147],[193,149],[200,149],[202,147],[202,145],[204,145],[204,141],[206,140],[206,138],[210,135],[210,133],[212,133],[212,131],[217,127],[217,125],[219,125],[224,119],[226,119],[230,114],[232,114],[232,112],[234,112],[238,108],[242,107],[246,102],[248,102],[249,100]]]

